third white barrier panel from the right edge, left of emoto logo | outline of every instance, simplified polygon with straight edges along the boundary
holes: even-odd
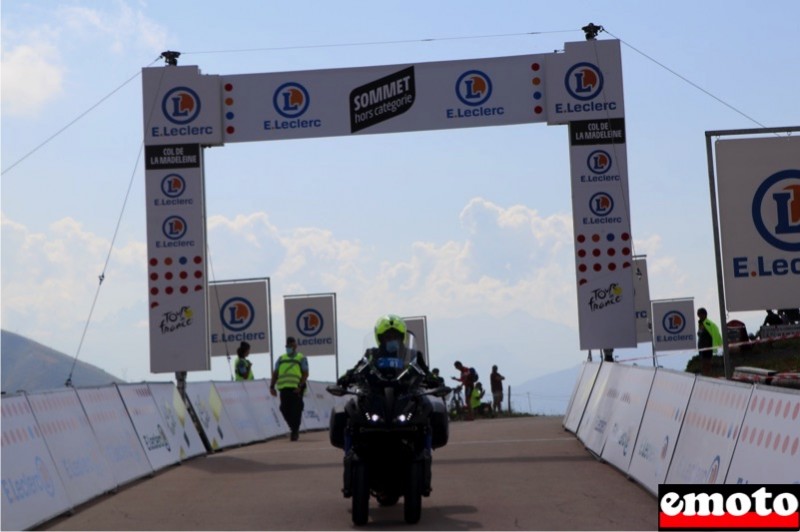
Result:
[[[628,474],[654,495],[664,483],[695,376],[659,368],[650,387]]]

